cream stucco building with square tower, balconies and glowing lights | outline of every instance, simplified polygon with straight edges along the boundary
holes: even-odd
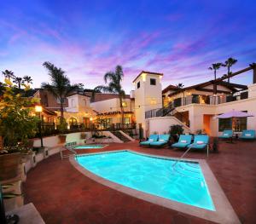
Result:
[[[249,85],[226,82],[227,78],[253,72]],[[64,100],[64,116],[68,127],[84,125],[89,128],[97,124],[98,129],[137,129],[141,124],[144,135],[154,132],[168,132],[172,124],[181,124],[186,133],[201,130],[217,136],[224,129],[256,129],[256,68],[251,65],[239,72],[205,83],[198,83],[182,89],[169,85],[162,88],[162,73],[140,72],[133,80],[134,90],[123,99],[122,120],[119,96],[113,94],[79,91]],[[60,102],[44,89],[35,94],[41,104],[60,116]],[[253,106],[254,105],[254,106]],[[215,119],[214,117],[231,110],[253,113],[253,118]]]

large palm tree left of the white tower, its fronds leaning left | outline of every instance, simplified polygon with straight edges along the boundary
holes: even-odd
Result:
[[[65,72],[56,67],[49,61],[44,62],[43,66],[48,70],[51,83],[42,83],[42,88],[46,89],[60,101],[61,106],[61,123],[64,121],[64,107],[63,103],[67,95],[79,89],[78,84],[71,84]]]

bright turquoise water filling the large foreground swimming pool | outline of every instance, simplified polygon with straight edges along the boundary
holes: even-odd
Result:
[[[136,152],[84,155],[78,163],[90,172],[138,191],[215,210],[201,166],[193,162],[149,157]]]

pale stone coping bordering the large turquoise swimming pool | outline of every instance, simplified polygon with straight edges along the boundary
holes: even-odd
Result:
[[[151,153],[137,152],[131,149],[112,150],[112,151],[105,151],[105,152],[91,152],[86,154],[79,154],[77,155],[77,157],[90,156],[94,154],[111,153],[111,152],[133,152],[133,153],[137,153],[137,154],[141,154],[141,155],[149,156],[153,158],[164,158],[164,159],[174,159],[174,160],[178,159],[174,157],[154,155]],[[132,197],[139,198],[149,203],[157,204],[171,210],[177,210],[184,214],[194,215],[196,217],[199,217],[208,221],[215,221],[218,223],[241,223],[238,219],[238,216],[236,215],[235,210],[232,208],[230,201],[224,194],[223,189],[218,184],[218,180],[216,179],[215,175],[212,172],[212,169],[209,167],[205,159],[188,158],[188,159],[182,159],[182,161],[197,162],[201,165],[201,170],[204,175],[205,181],[207,182],[208,191],[210,192],[212,202],[215,207],[215,211],[202,209],[189,204],[179,203],[177,201],[173,201],[172,199],[161,198],[153,194],[132,189],[131,187],[125,187],[113,181],[108,181],[107,179],[104,179],[99,175],[95,175],[94,173],[90,172],[88,169],[85,169],[83,166],[81,166],[75,159],[75,156],[70,157],[69,161],[71,164],[73,164],[75,169],[78,169],[80,173],[89,177],[93,181],[96,181],[104,186],[110,187],[113,190],[117,190],[119,192],[128,194]]]

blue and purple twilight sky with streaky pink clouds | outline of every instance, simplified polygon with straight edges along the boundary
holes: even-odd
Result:
[[[253,0],[0,0],[0,71],[36,88],[50,61],[92,89],[121,65],[126,92],[143,70],[164,73],[163,88],[189,86],[212,79],[212,63],[236,58],[236,72],[256,62],[255,9]],[[251,83],[252,72],[231,81]]]

